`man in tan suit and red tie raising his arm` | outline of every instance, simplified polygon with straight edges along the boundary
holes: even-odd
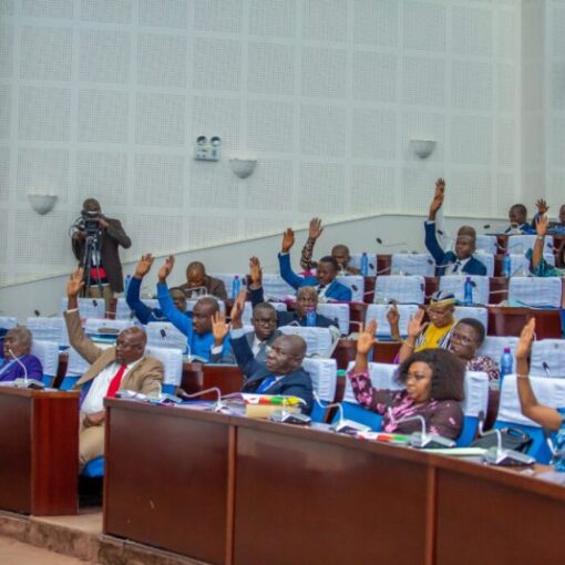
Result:
[[[161,361],[145,357],[147,338],[141,328],[121,331],[115,347],[107,349],[95,346],[84,335],[78,301],[83,284],[83,269],[76,269],[66,285],[69,302],[64,312],[71,346],[91,363],[75,384],[75,388],[81,388],[91,383],[80,414],[81,466],[104,454],[104,398],[115,397],[119,390],[155,394],[161,392],[163,384],[163,366]]]

